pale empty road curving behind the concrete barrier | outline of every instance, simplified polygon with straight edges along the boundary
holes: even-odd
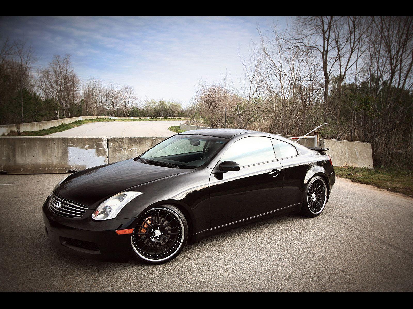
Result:
[[[168,128],[179,126],[181,122],[182,120],[92,122],[49,136],[168,137],[176,134]]]

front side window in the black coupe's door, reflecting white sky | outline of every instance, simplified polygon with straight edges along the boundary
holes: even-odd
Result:
[[[250,136],[233,143],[222,156],[221,161],[233,161],[247,166],[275,160],[270,138]]]

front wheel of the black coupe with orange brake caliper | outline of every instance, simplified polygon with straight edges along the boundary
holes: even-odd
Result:
[[[188,239],[188,223],[173,205],[151,208],[142,214],[131,236],[132,251],[138,260],[163,264],[176,258]]]

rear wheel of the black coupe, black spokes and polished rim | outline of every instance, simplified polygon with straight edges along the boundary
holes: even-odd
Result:
[[[300,214],[307,217],[317,217],[323,212],[327,203],[327,183],[323,177],[315,176],[309,181],[304,192]]]

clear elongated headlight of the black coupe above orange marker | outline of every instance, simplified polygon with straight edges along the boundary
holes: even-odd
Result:
[[[116,218],[119,211],[125,207],[133,198],[142,194],[142,192],[136,191],[126,191],[114,195],[113,197],[107,199],[99,207],[96,208],[95,212],[92,214],[92,218],[95,220],[108,220]]]

